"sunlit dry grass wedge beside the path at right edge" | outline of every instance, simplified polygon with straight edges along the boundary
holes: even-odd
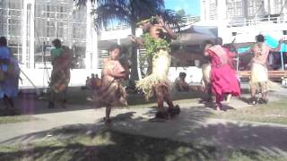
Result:
[[[216,113],[213,117],[237,121],[287,124],[287,101],[280,100],[268,105],[229,110],[224,113]]]

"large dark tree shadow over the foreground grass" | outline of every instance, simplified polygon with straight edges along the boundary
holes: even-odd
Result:
[[[138,125],[140,125],[139,123]],[[153,124],[153,123],[151,123]],[[168,124],[168,123],[161,123]],[[118,125],[118,124],[114,124]],[[164,131],[162,126],[157,129]],[[186,127],[184,127],[186,126]],[[171,126],[173,127],[173,126]],[[112,127],[94,124],[76,124],[41,131],[18,137],[6,142],[6,149],[0,146],[1,160],[97,160],[97,161],[178,161],[178,160],[277,160],[278,150],[286,151],[283,141],[270,140],[271,127],[253,127],[233,123],[201,126],[192,131],[190,124],[178,128],[185,131],[179,137],[188,137],[189,143],[182,141],[148,137],[143,134],[127,134]],[[122,128],[122,127],[120,127]],[[150,128],[150,131],[155,129]],[[277,129],[278,130],[278,129]],[[274,137],[280,137],[276,128]],[[197,136],[190,135],[197,132]],[[48,138],[47,134],[52,137]],[[199,134],[199,135],[198,135]],[[190,135],[190,136],[189,136]],[[281,134],[281,136],[286,133]],[[21,139],[22,138],[22,139]],[[162,136],[164,138],[164,136]],[[19,139],[21,139],[20,142]],[[22,143],[17,148],[9,148],[15,140]],[[209,145],[198,144],[208,142]],[[26,143],[23,143],[26,142]],[[249,147],[248,147],[248,146]],[[285,158],[285,157],[284,157]]]

